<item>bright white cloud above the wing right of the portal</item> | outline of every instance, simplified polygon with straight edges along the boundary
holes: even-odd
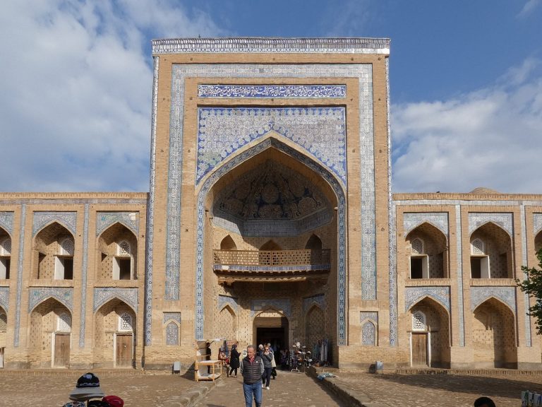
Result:
[[[393,190],[540,193],[542,64],[447,101],[392,106]]]

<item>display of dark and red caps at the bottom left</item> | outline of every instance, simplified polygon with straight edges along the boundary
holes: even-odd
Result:
[[[123,407],[119,396],[106,396],[100,388],[100,379],[93,373],[85,373],[77,380],[76,387],[63,407]]]

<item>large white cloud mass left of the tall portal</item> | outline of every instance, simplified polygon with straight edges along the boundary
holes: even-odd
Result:
[[[0,190],[147,191],[150,37],[221,33],[172,1],[4,4]]]

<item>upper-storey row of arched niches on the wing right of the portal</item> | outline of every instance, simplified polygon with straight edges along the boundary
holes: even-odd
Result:
[[[404,285],[515,286],[542,247],[542,196],[395,194],[397,274]]]

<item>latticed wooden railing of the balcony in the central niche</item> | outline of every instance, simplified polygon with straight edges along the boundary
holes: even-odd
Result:
[[[214,250],[215,264],[239,266],[306,266],[330,264],[330,249],[323,250]]]

